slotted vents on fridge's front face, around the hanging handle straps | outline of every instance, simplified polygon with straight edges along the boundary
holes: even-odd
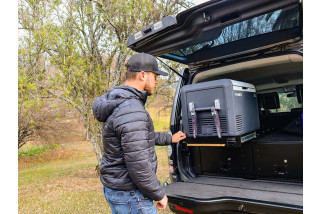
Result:
[[[207,117],[197,118],[197,129],[199,136],[213,136],[217,135],[217,130],[215,126],[214,118],[210,115]],[[227,121],[226,116],[219,116],[220,126],[221,126],[221,133],[227,133]],[[207,133],[205,133],[205,130]],[[192,128],[192,121],[189,119],[189,133],[193,135],[193,128]]]

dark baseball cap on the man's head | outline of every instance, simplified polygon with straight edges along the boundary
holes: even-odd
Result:
[[[128,71],[140,72],[151,71],[158,75],[168,76],[168,73],[160,71],[158,68],[158,62],[154,56],[146,53],[137,53],[131,56],[126,64]]]

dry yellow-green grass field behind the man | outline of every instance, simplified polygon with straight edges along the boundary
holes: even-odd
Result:
[[[159,121],[156,130],[168,127],[168,116],[151,117]],[[168,176],[167,147],[156,147],[156,152],[157,176],[163,183]],[[95,153],[88,141],[26,146],[19,155],[19,213],[111,213],[95,166]]]

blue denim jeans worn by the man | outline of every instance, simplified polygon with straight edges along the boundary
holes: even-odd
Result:
[[[112,214],[157,214],[153,201],[139,190],[112,190],[103,185],[103,192]]]

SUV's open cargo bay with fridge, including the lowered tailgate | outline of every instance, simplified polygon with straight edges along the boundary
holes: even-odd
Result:
[[[302,76],[300,54],[196,72],[181,90],[178,108],[187,138],[175,150],[179,173],[166,187],[169,203],[198,213],[302,213]],[[224,79],[232,80],[232,87],[221,86]],[[211,93],[211,87],[224,92]],[[209,109],[218,109],[222,138]],[[259,126],[252,126],[256,120]],[[228,144],[231,138],[243,139],[252,132],[255,138]],[[244,205],[248,208],[240,209]]]

